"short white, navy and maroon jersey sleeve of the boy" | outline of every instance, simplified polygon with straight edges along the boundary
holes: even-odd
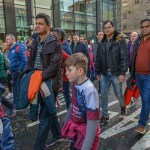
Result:
[[[86,116],[88,120],[99,119],[99,96],[94,87],[86,92]]]

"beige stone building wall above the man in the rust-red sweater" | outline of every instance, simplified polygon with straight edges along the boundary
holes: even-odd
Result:
[[[150,18],[150,0],[122,0],[122,31],[140,33],[140,21]]]

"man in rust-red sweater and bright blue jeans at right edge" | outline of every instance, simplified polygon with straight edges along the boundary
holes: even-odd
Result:
[[[145,134],[150,114],[150,19],[141,21],[141,35],[134,44],[131,63],[131,78],[136,78],[142,101],[140,119],[135,131]]]

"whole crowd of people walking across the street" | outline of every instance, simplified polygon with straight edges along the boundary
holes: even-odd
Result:
[[[111,85],[119,101],[120,114],[127,113],[122,84],[126,81],[128,70],[130,77],[127,86],[136,79],[142,101],[139,124],[135,131],[145,134],[150,113],[150,19],[142,20],[141,33],[132,32],[128,41],[123,34],[116,31],[113,22],[109,20],[104,22],[103,31],[97,32],[96,41],[87,41],[78,34],[67,41],[65,31],[61,28],[51,30],[50,24],[50,16],[39,13],[36,16],[36,33],[26,45],[16,42],[13,34],[7,34],[6,41],[2,43],[1,148],[14,149],[15,141],[8,117],[16,116],[20,107],[20,93],[24,92],[30,107],[39,113],[33,119],[39,119],[34,150],[44,150],[63,138],[69,139],[71,150],[98,150],[100,126],[106,125],[110,120],[108,91]],[[93,84],[94,80],[98,80],[98,90]],[[24,84],[26,88],[21,89],[23,86],[20,86],[21,92],[18,92],[20,84]],[[55,105],[61,90],[67,109],[62,128]],[[12,97],[13,101],[10,101]],[[132,98],[131,105],[135,101]],[[8,116],[3,105],[8,108]],[[52,138],[47,140],[50,130]]]

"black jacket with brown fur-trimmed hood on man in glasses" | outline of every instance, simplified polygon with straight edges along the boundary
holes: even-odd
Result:
[[[106,52],[106,36],[98,45],[95,69],[97,75],[106,74],[107,69],[111,70],[113,75],[125,75],[128,70],[129,51],[126,40],[122,34],[115,31],[109,49]],[[107,65],[107,59],[110,66]]]

